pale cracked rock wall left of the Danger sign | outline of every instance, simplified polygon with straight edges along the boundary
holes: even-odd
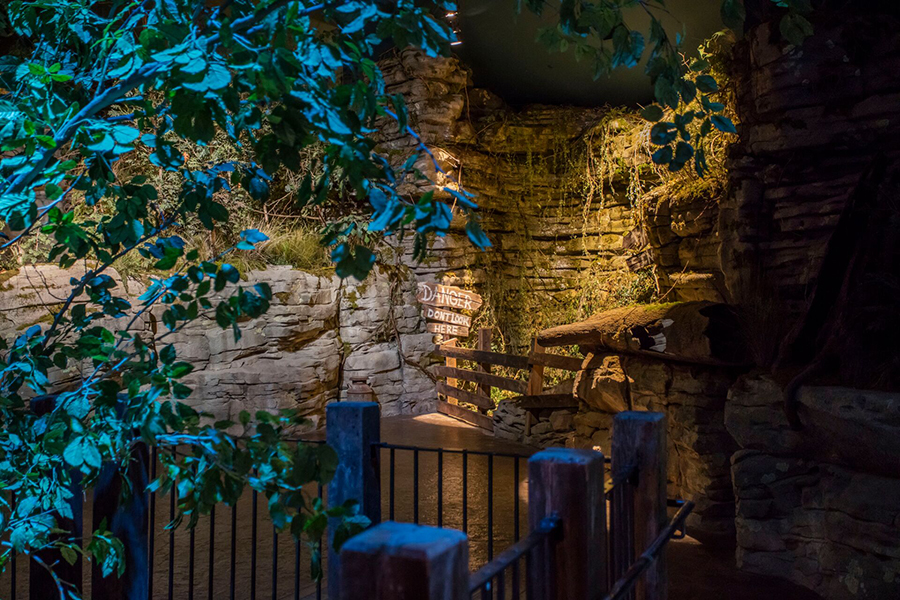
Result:
[[[71,286],[83,274],[52,265],[4,274],[0,286],[0,336],[10,339],[31,325],[46,326]],[[114,277],[138,305],[144,286]],[[290,267],[251,271],[245,284],[272,288],[269,311],[241,324],[242,337],[201,316],[170,337],[179,357],[195,370],[185,378],[194,388],[186,402],[219,419],[236,420],[241,410],[298,409],[313,427],[324,421],[325,405],[345,393],[350,377],[369,377],[385,416],[430,412],[434,384],[425,371],[432,334],[415,305],[415,280],[405,271],[376,272],[364,284],[312,275]],[[110,320],[110,328],[123,322]],[[150,327],[142,320],[140,328]],[[59,388],[75,385],[81,370],[54,372]]]

